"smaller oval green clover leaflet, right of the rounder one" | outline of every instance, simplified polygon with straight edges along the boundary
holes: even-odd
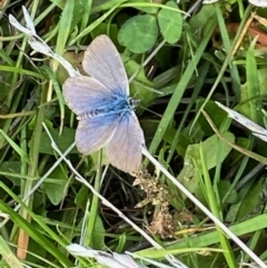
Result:
[[[177,8],[172,1],[166,3],[171,8]],[[182,17],[180,12],[168,9],[161,9],[158,13],[159,29],[168,43],[176,43],[181,36],[182,31]]]

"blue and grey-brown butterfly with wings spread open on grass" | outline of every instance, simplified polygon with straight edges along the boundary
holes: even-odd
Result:
[[[108,36],[97,37],[82,60],[87,76],[71,77],[62,86],[69,108],[78,116],[76,146],[89,156],[107,146],[109,162],[125,172],[141,168],[145,137],[129,97],[123,63]]]

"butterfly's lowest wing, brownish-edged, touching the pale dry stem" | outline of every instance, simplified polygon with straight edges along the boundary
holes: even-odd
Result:
[[[134,112],[122,115],[107,147],[107,157],[112,166],[126,172],[141,168],[144,132]]]

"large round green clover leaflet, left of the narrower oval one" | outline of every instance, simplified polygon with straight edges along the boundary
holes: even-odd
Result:
[[[158,37],[157,20],[151,14],[137,16],[121,27],[118,41],[134,53],[150,50]]]

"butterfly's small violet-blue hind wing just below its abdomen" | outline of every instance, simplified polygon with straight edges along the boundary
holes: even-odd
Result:
[[[112,138],[119,122],[118,115],[82,119],[76,131],[76,146],[78,150],[89,156],[107,145]]]

